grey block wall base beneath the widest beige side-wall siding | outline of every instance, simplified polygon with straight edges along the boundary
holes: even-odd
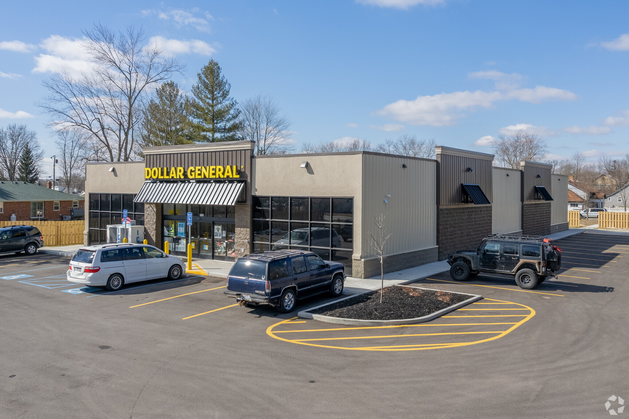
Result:
[[[384,258],[384,273],[401,271],[430,262],[437,262],[437,246],[429,249],[415,250]],[[352,277],[369,278],[380,275],[380,259],[353,259]]]

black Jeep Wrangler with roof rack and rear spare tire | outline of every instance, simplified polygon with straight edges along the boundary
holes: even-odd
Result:
[[[480,272],[515,275],[520,288],[535,288],[561,267],[561,249],[551,241],[541,236],[488,236],[477,250],[448,255],[450,276],[455,281],[467,281]]]

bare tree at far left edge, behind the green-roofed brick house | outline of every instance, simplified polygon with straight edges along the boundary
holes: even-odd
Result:
[[[29,145],[33,158],[39,161],[43,157],[37,134],[28,129],[26,125],[11,124],[6,128],[0,128],[0,170],[9,181],[14,181],[18,176],[19,157]]]

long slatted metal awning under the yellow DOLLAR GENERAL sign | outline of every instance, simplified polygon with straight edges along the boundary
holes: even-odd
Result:
[[[234,205],[244,182],[144,182],[133,201],[162,204]]]

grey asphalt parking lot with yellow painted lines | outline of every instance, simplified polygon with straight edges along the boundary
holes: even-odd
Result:
[[[281,315],[225,279],[109,293],[65,281],[69,258],[0,256],[0,417],[606,417],[629,400],[629,235],[556,243],[559,279],[431,276],[484,299],[386,328],[296,318],[329,298]]]

